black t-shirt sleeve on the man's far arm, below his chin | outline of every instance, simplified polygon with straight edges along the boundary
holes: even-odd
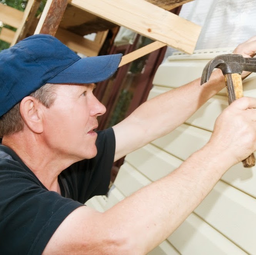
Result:
[[[70,198],[83,204],[95,195],[105,195],[110,183],[115,156],[114,130],[110,127],[97,134],[97,155],[76,162],[61,173],[67,182]]]

